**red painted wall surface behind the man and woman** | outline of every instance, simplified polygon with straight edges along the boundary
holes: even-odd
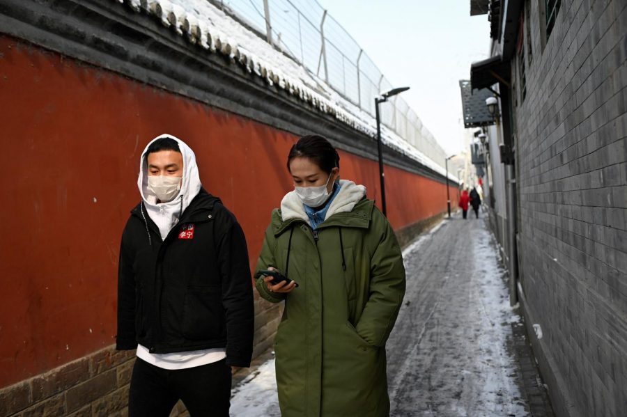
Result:
[[[251,267],[293,187],[295,135],[3,36],[0,102],[0,387],[114,343],[118,245],[154,136],[194,149],[204,187],[242,223]],[[442,183],[386,169],[395,228],[446,209]],[[379,200],[376,162],[341,152],[341,176]]]

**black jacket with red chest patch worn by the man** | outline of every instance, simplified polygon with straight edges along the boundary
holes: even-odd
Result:
[[[117,349],[226,347],[227,365],[246,367],[253,332],[244,233],[219,198],[201,189],[163,241],[137,205],[122,234]]]

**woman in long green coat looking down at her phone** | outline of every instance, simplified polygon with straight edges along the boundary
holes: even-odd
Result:
[[[339,180],[339,155],[304,136],[288,155],[294,191],[273,210],[256,288],[285,308],[274,340],[281,415],[389,416],[385,342],[405,294],[394,231]],[[292,281],[273,284],[264,269]]]

